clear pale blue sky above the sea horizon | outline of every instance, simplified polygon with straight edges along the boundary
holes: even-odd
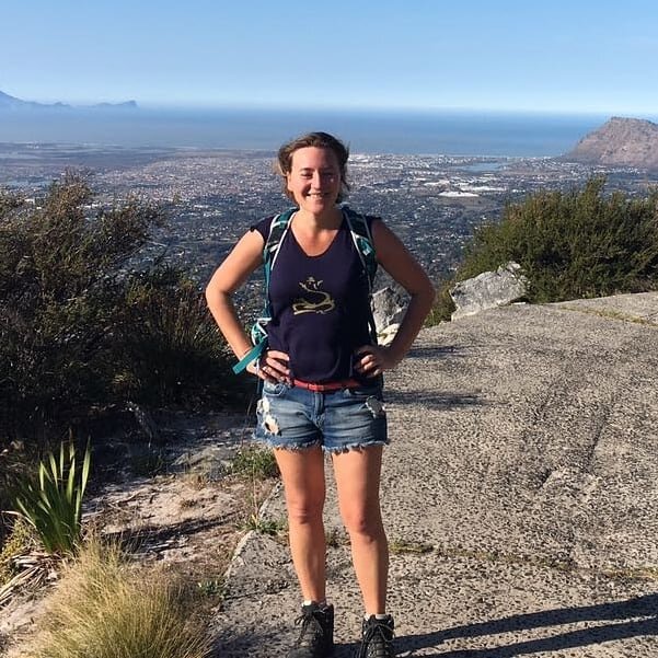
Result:
[[[655,0],[7,0],[0,90],[140,105],[658,115]]]

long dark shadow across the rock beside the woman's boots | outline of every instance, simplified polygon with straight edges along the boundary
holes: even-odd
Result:
[[[658,635],[658,594],[648,594],[626,601],[585,605],[581,608],[563,608],[529,614],[455,626],[446,631],[424,635],[408,635],[397,639],[397,650],[408,651],[405,656],[415,656],[419,649],[436,648],[441,643],[469,637],[519,633],[538,628],[550,628],[562,624],[579,622],[614,622],[588,628],[567,631],[551,637],[531,638],[513,644],[487,647],[483,649],[458,649],[426,654],[423,656],[440,656],[441,658],[513,658],[542,651],[558,651],[597,645],[631,637]],[[646,619],[637,619],[646,617]]]

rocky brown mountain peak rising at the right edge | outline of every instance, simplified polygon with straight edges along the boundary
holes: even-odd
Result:
[[[586,135],[562,159],[585,164],[658,170],[658,124],[613,116],[600,128]]]

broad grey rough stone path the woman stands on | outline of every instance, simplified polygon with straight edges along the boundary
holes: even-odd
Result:
[[[512,305],[424,331],[389,374],[400,656],[658,655],[657,318],[658,293]],[[342,658],[362,611],[331,487],[325,518]],[[285,538],[250,534],[215,656],[285,656],[298,607]]]

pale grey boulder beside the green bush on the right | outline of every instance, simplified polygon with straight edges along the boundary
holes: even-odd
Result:
[[[528,280],[518,263],[509,262],[496,272],[483,272],[472,279],[460,281],[450,290],[457,307],[451,320],[474,315],[486,309],[504,307],[526,296]]]

